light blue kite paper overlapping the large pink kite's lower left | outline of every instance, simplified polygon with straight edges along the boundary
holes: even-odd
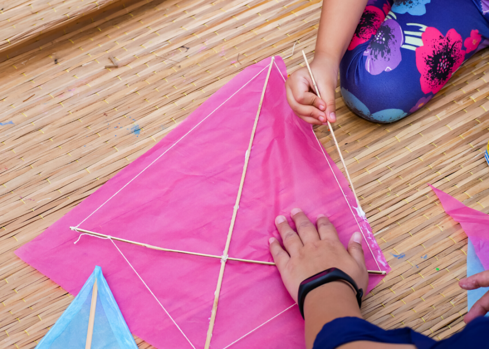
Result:
[[[85,349],[95,280],[98,294],[91,349],[138,349],[98,266],[37,349]]]

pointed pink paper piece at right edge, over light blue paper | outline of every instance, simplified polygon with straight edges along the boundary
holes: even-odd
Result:
[[[431,184],[430,187],[440,199],[445,212],[460,223],[484,269],[489,270],[489,215],[465,206]]]

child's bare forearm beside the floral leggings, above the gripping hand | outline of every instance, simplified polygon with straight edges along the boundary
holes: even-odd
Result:
[[[323,0],[315,56],[339,65],[366,4],[367,0]]]

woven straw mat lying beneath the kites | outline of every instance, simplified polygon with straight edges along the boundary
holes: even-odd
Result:
[[[300,67],[300,49],[313,55],[320,6],[125,1],[42,47],[0,57],[0,348],[35,347],[73,299],[15,249],[245,66],[286,57],[298,40],[286,64],[289,73]],[[105,68],[111,56],[118,67]],[[338,89],[335,134],[393,269],[363,306],[384,328],[443,339],[464,326],[467,296],[457,282],[466,275],[467,236],[427,183],[489,212],[488,62],[489,51],[477,53],[426,108],[389,125],[354,116]],[[339,163],[327,129],[315,132]]]

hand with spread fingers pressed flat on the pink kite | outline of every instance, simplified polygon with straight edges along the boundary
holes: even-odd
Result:
[[[269,242],[273,261],[295,302],[302,281],[333,267],[353,278],[358,288],[367,289],[368,274],[360,233],[352,235],[346,250],[338,239],[336,229],[324,215],[317,217],[317,229],[298,208],[291,211],[291,217],[297,233],[290,228],[284,216],[275,219],[285,249],[275,238],[270,238]]]

